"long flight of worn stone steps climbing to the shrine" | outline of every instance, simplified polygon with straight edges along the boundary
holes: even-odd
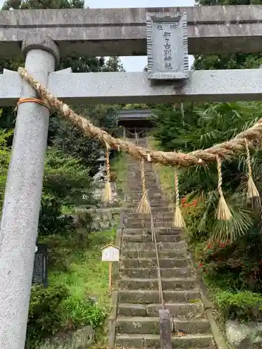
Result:
[[[145,145],[146,140],[140,139]],[[140,163],[128,159],[129,208],[125,211],[119,268],[115,346],[160,348],[157,258],[150,217],[136,213],[141,198]],[[159,249],[163,297],[170,311],[173,348],[211,349],[210,324],[180,230],[171,228],[173,211],[163,198],[150,164],[145,176]]]

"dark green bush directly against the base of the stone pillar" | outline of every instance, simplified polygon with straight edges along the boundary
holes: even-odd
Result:
[[[61,301],[68,295],[62,285],[43,288],[41,285],[31,289],[29,317],[27,322],[27,346],[33,348],[43,338],[59,331],[62,327]],[[34,343],[34,344],[33,344]]]

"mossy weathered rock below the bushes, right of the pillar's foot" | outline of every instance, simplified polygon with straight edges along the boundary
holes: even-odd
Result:
[[[38,349],[86,349],[94,343],[94,329],[85,326],[63,336],[47,339]]]

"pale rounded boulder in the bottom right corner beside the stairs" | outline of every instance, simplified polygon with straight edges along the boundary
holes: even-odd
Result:
[[[226,336],[233,348],[262,348],[262,323],[226,323]]]

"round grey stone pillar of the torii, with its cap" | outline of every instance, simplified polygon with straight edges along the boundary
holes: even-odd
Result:
[[[45,87],[59,50],[51,38],[31,33],[22,43],[26,68]],[[36,91],[23,84],[22,98]],[[0,348],[24,349],[41,205],[50,111],[37,103],[18,107],[0,232]]]

